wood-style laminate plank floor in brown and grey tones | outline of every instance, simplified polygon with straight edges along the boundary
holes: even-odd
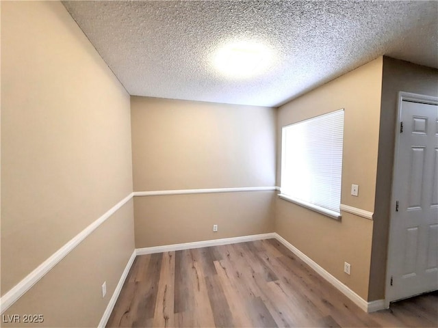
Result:
[[[138,256],[107,327],[438,327],[438,292],[368,314],[269,239]]]

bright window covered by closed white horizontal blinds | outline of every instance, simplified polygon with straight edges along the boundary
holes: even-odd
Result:
[[[281,194],[339,219],[344,109],[283,126]]]

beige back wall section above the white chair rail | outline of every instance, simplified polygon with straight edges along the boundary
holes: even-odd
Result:
[[[275,109],[131,97],[134,191],[274,186]]]

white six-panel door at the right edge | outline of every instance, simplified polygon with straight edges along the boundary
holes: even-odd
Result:
[[[438,106],[402,100],[387,301],[438,289]]]

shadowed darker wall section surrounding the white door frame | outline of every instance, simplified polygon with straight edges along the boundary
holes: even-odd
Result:
[[[385,297],[394,139],[398,113],[398,92],[400,91],[438,97],[438,70],[389,57],[383,58],[376,206],[372,238],[370,292],[368,295],[371,301]]]

